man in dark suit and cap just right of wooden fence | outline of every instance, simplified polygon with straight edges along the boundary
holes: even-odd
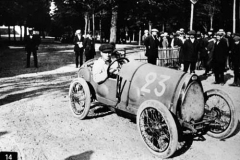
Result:
[[[195,73],[196,62],[198,59],[198,41],[195,39],[196,32],[189,31],[190,39],[187,39],[183,44],[183,71],[187,72],[190,66],[190,73]]]

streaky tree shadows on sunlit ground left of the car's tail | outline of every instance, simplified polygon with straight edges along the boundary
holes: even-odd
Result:
[[[62,92],[67,95],[74,76],[76,76],[75,73],[70,72],[5,80],[0,84],[0,105],[38,97],[50,92]]]

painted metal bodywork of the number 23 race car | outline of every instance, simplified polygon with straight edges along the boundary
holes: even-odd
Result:
[[[184,91],[193,76],[149,63],[130,61],[122,65],[117,79],[108,78],[104,83],[97,84],[92,78],[92,65],[95,60],[86,62],[79,69],[78,76],[92,85],[99,102],[134,115],[141,103],[149,99],[160,101],[176,113],[177,106],[184,101]],[[201,82],[199,84],[201,86]],[[198,109],[195,110],[197,113]],[[199,113],[202,114],[202,111]]]

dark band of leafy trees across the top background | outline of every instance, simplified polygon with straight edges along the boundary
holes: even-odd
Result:
[[[57,9],[50,17],[51,2],[52,0],[0,0],[0,25],[26,25],[47,30],[57,36],[83,29],[86,15],[88,18],[94,15],[96,30],[102,28],[108,35],[111,17],[117,13],[117,23],[114,24],[118,33],[120,30],[147,29],[149,23],[159,30],[169,32],[179,28],[189,29],[190,0],[54,0]],[[215,30],[230,29],[232,5],[232,0],[198,0],[194,5],[193,28],[209,30],[212,19]]]

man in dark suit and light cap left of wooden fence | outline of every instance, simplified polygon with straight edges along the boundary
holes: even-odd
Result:
[[[148,63],[157,64],[157,58],[158,58],[158,47],[160,45],[157,33],[157,29],[152,29],[152,35],[148,36],[146,40],[144,41],[144,45],[146,46],[146,54],[148,59]]]

